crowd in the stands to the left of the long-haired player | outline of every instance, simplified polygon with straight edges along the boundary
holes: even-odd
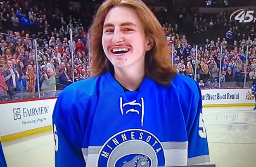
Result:
[[[52,8],[29,0],[0,2],[0,96],[17,98],[40,90],[41,97],[52,97],[72,81],[89,77],[88,36],[81,11],[70,7],[71,15],[64,19],[55,5]]]

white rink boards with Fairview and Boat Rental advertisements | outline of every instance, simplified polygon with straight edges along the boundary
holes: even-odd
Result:
[[[254,95],[249,88],[201,90],[204,107],[251,106]],[[9,141],[52,129],[56,98],[15,101],[0,104],[0,137]]]

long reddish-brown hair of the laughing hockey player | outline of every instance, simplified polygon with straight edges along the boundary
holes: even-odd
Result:
[[[176,74],[171,66],[171,49],[158,19],[141,0],[106,0],[100,5],[89,30],[92,76],[100,76],[107,71],[114,72],[114,66],[103,50],[102,33],[107,13],[116,6],[132,8],[144,26],[146,37],[153,43],[152,49],[145,55],[145,75],[161,85],[169,86]]]

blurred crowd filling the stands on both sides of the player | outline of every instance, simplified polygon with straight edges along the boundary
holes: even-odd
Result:
[[[90,77],[88,27],[100,2],[0,1],[0,101],[55,97]],[[144,2],[162,24],[178,73],[196,79],[202,89],[251,86],[256,23],[230,21],[234,9],[202,13],[175,0]]]

